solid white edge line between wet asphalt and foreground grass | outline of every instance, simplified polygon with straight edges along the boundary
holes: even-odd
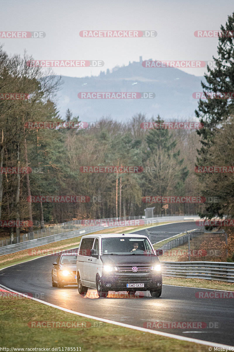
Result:
[[[16,294],[19,294],[19,295],[24,295],[24,294],[22,294],[20,292],[17,292],[17,291],[9,289],[8,287],[6,287],[4,285],[0,285],[0,287],[4,288],[6,290],[9,290],[9,291],[11,291],[13,293],[16,293]],[[169,334],[169,333],[166,333],[166,332],[160,332],[160,331],[155,331],[155,330],[151,330],[151,329],[146,329],[146,328],[142,328],[142,327],[139,327],[139,326],[134,326],[134,325],[129,325],[129,324],[125,324],[125,323],[120,323],[118,321],[113,321],[113,320],[109,320],[109,319],[98,318],[97,316],[87,315],[87,314],[83,314],[83,313],[78,313],[78,312],[74,312],[73,310],[70,310],[70,309],[67,309],[67,308],[62,308],[62,307],[59,307],[59,306],[55,306],[55,304],[41,301],[38,298],[29,297],[27,295],[24,295],[24,297],[27,297],[27,298],[29,298],[30,300],[33,300],[33,301],[40,302],[42,304],[46,304],[46,306],[63,310],[63,312],[72,313],[72,314],[75,314],[75,315],[83,316],[84,318],[95,319],[95,320],[98,320],[98,321],[103,321],[103,322],[108,323],[108,324],[118,325],[118,326],[122,326],[122,327],[125,327],[125,328],[133,329],[133,330],[138,330],[138,331],[148,332],[148,333],[155,334],[155,335],[170,337],[170,338],[173,338],[173,339],[176,339],[176,340],[194,342],[196,344],[205,345],[205,346],[220,347],[220,348],[232,348],[233,347],[233,346],[229,346],[229,345],[216,344],[215,342],[203,341],[203,340],[193,339],[193,338],[190,338],[190,337],[185,337],[185,336],[180,336],[180,335]]]

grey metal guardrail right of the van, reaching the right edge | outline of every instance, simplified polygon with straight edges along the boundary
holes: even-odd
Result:
[[[234,263],[161,262],[163,276],[234,282]]]

